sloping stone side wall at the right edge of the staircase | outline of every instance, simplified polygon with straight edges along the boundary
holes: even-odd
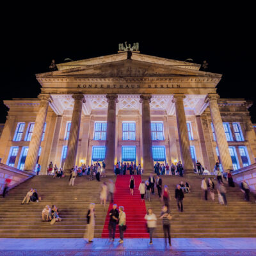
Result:
[[[239,185],[242,180],[245,180],[250,186],[250,191],[256,193],[256,163],[240,168],[236,171],[232,171],[232,177],[234,182]]]

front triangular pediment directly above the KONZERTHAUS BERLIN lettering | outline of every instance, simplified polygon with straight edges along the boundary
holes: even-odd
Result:
[[[175,64],[164,65],[125,59],[38,74],[37,77],[221,77],[221,75],[177,67]]]

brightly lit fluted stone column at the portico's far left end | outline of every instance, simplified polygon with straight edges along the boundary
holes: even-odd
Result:
[[[42,141],[48,106],[49,102],[51,101],[51,96],[49,94],[41,94],[38,98],[41,99],[40,106],[36,115],[35,127],[33,130],[31,141],[29,142],[28,155],[26,157],[24,166],[24,170],[28,172],[33,172],[36,167],[36,161]]]

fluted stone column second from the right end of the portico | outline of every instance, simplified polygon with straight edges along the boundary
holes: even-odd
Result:
[[[180,154],[184,170],[187,172],[193,172],[194,166],[190,153],[190,144],[188,138],[188,127],[186,122],[186,115],[184,109],[183,99],[186,96],[184,94],[173,95],[173,102],[175,102],[177,126],[179,133],[179,143],[180,143]]]

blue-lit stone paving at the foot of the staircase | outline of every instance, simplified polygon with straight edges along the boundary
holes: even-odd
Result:
[[[255,255],[256,238],[176,238],[172,247],[164,246],[164,239],[125,239],[118,244],[108,239],[93,239],[88,244],[84,239],[0,239],[0,255]]]

